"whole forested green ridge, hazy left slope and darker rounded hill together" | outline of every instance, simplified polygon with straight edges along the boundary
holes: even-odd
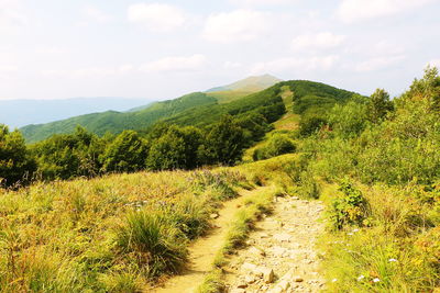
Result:
[[[95,134],[103,135],[107,132],[118,134],[124,129],[146,129],[160,121],[184,126],[205,126],[219,121],[224,114],[240,115],[250,111],[262,114],[264,114],[263,112],[273,112],[275,117],[280,111],[276,104],[283,103],[280,97],[283,87],[288,87],[294,93],[294,111],[296,113],[302,113],[305,109],[314,109],[314,104],[320,109],[323,105],[331,108],[354,94],[314,81],[283,81],[256,93],[235,97],[230,99],[230,102],[223,100],[223,103],[219,103],[212,97],[215,93],[211,92],[196,92],[175,100],[152,103],[148,108],[136,112],[108,111],[47,124],[29,125],[20,131],[28,143],[35,143],[54,134],[72,133],[77,125],[81,125]],[[264,116],[268,117],[270,115],[264,114]],[[268,121],[273,122],[271,119]]]

